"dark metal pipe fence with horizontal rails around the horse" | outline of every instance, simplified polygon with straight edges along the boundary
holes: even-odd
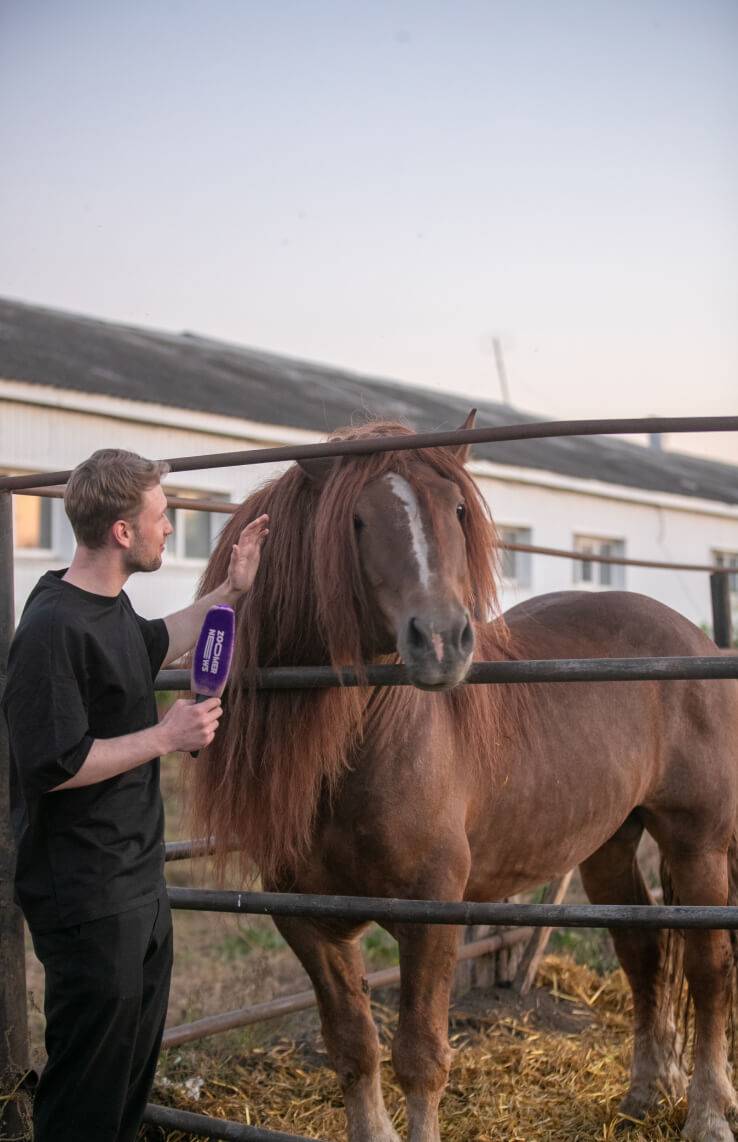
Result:
[[[513,440],[532,440],[548,436],[584,436],[611,434],[644,434],[653,432],[724,432],[738,429],[738,417],[651,417],[647,419],[542,421],[510,425],[502,428],[472,428],[456,432],[423,433],[414,436],[376,437],[374,440],[332,441],[288,448],[254,449],[214,456],[176,457],[170,459],[171,471],[186,472],[202,468],[228,467],[246,464],[265,464],[305,457],[366,455],[377,451],[486,443]],[[58,494],[69,472],[0,477],[0,683],[5,686],[5,671],[14,629],[13,601],[13,493]],[[174,499],[174,502],[177,502]],[[227,505],[207,500],[186,500],[181,506],[206,510],[231,510]],[[520,550],[567,558],[581,558],[580,553],[510,545]],[[732,642],[730,620],[729,569],[700,564],[663,564],[587,555],[591,562],[611,562],[633,565],[693,570],[711,574],[713,620],[719,645]],[[724,678],[738,677],[738,657],[668,658],[668,659],[567,659],[528,662],[478,662],[468,677],[471,684],[500,682],[575,682],[575,681],[635,681],[643,678]],[[363,674],[343,670],[340,678],[328,667],[274,668],[260,671],[260,686],[330,686],[344,685],[407,685],[404,668],[369,666]],[[235,683],[238,684],[238,683]],[[233,685],[233,683],[232,683]],[[187,690],[190,676],[183,670],[163,670],[157,679],[159,690]],[[27,1020],[25,996],[24,939],[21,914],[13,903],[11,878],[14,866],[13,838],[9,823],[8,781],[9,748],[5,724],[0,724],[0,1020],[6,1035],[0,1038],[0,1075],[11,1076],[27,1069]],[[186,842],[184,844],[190,844]],[[721,927],[738,928],[738,908],[679,908],[657,906],[609,906],[578,908],[562,904],[502,904],[440,901],[370,900],[366,898],[292,896],[272,893],[216,893],[188,888],[170,888],[175,908],[216,911],[251,911],[258,915],[332,915],[360,916],[364,919],[401,919],[408,923],[440,924],[505,924],[511,926],[556,927]],[[490,938],[495,939],[495,938]],[[468,948],[473,946],[467,946]],[[467,952],[470,955],[470,952]],[[218,1016],[215,1016],[216,1019]],[[11,1101],[11,1100],[10,1100]],[[238,1142],[280,1142],[295,1135],[260,1131],[200,1115],[190,1115],[169,1108],[150,1107],[146,1121],[170,1128],[195,1132],[206,1137],[238,1140]]]

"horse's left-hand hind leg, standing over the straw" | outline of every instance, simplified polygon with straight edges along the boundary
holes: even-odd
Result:
[[[592,903],[652,903],[635,859],[642,831],[639,819],[628,818],[581,864],[581,882]],[[611,928],[610,934],[631,984],[635,1020],[631,1085],[620,1110],[642,1118],[665,1093],[681,1097],[687,1089],[667,987],[668,938],[664,931],[649,928]]]

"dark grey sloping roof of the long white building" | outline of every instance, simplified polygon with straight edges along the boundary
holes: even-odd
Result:
[[[192,333],[165,333],[0,299],[0,378],[328,434],[368,415],[417,432],[545,419],[495,401],[362,377]],[[738,468],[612,436],[474,445],[476,459],[738,504]]]

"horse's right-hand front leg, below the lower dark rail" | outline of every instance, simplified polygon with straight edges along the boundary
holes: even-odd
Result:
[[[398,925],[400,1022],[392,1061],[408,1109],[408,1142],[440,1142],[439,1103],[448,1079],[449,996],[458,928]]]

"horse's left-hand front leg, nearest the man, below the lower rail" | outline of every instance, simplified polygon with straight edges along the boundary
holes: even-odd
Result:
[[[280,917],[276,925],[315,989],[326,1049],[343,1091],[348,1142],[400,1142],[382,1096],[360,930],[292,917]]]

